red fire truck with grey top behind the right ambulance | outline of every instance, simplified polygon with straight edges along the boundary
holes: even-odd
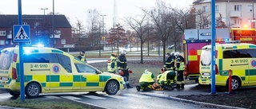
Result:
[[[211,43],[211,29],[185,29],[182,38],[185,58],[184,76],[198,82],[200,54],[202,47]],[[223,44],[226,41],[256,44],[256,31],[248,28],[216,28],[216,43]]]

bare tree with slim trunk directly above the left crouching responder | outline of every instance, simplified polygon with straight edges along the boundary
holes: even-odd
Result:
[[[136,37],[140,39],[140,47],[141,47],[141,64],[143,64],[143,44],[146,41],[147,31],[148,31],[148,23],[146,22],[146,13],[138,18],[125,18],[124,20],[127,25],[130,26],[131,29],[136,33]]]

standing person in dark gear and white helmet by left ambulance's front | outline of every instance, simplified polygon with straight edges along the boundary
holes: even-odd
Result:
[[[130,69],[128,68],[126,61],[127,61],[126,60],[126,51],[123,50],[121,55],[118,56],[118,72],[122,77],[124,77],[124,80],[126,82],[125,83],[126,88],[133,88],[129,84]]]

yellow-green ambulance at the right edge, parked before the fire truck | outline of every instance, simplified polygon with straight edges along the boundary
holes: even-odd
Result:
[[[228,88],[229,70],[232,90],[256,85],[256,45],[248,43],[216,44],[215,84]],[[202,47],[199,84],[211,84],[211,45]]]

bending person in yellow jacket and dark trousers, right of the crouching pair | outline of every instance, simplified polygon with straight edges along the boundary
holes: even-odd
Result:
[[[161,84],[163,89],[168,89],[169,87],[174,89],[174,79],[174,70],[163,71],[162,76],[159,79],[159,83]]]

